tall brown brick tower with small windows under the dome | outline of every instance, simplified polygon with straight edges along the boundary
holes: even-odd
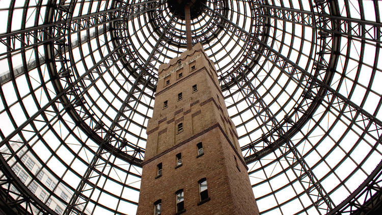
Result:
[[[159,67],[139,215],[259,214],[236,129],[200,43]]]

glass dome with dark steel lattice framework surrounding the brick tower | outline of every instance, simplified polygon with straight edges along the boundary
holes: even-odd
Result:
[[[261,213],[381,211],[380,2],[194,2]],[[2,0],[3,212],[135,213],[157,70],[187,49],[174,5]]]

